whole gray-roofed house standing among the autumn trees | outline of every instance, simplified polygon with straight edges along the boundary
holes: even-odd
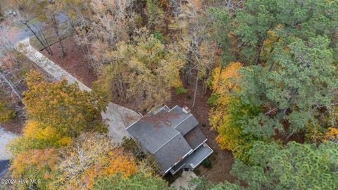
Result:
[[[156,159],[162,175],[194,170],[213,153],[189,108],[158,108],[126,128]]]

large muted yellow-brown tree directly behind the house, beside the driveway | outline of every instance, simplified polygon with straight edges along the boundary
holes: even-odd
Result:
[[[122,100],[132,101],[138,110],[149,110],[170,100],[170,88],[180,87],[180,68],[184,64],[179,52],[148,34],[137,31],[134,43],[120,42],[111,51],[111,64],[97,86]]]

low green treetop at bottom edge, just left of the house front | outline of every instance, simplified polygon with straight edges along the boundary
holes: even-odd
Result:
[[[142,172],[132,175],[129,178],[121,177],[121,175],[112,175],[110,177],[101,177],[96,179],[94,189],[139,189],[139,190],[165,190],[168,184],[161,177],[152,177]]]

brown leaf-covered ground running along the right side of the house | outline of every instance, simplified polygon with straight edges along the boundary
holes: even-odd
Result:
[[[184,75],[181,75],[181,80],[184,81]],[[232,163],[234,162],[232,153],[230,151],[223,151],[218,146],[215,138],[218,135],[218,132],[211,129],[208,117],[211,107],[208,105],[208,99],[211,96],[212,91],[208,89],[206,94],[203,94],[203,83],[199,81],[198,90],[196,93],[196,101],[194,108],[192,108],[193,98],[194,98],[194,87],[196,82],[196,73],[192,73],[190,76],[189,84],[185,85],[188,91],[184,94],[176,94],[175,89],[172,89],[172,98],[171,101],[167,103],[169,108],[173,106],[187,106],[192,110],[192,114],[196,117],[201,125],[201,129],[206,135],[208,141],[206,144],[210,146],[214,153],[210,156],[211,167],[206,168],[203,165],[194,170],[196,175],[204,175],[208,180],[212,182],[224,182],[228,180],[234,182],[234,177],[230,175],[230,170],[232,169]]]

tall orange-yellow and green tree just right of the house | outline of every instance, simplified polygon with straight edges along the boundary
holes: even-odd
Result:
[[[235,158],[247,160],[247,151],[252,145],[253,138],[243,133],[240,120],[242,115],[254,115],[256,108],[242,103],[232,93],[239,91],[237,72],[242,68],[242,63],[232,62],[225,68],[215,68],[211,89],[213,94],[209,103],[213,106],[209,113],[211,127],[218,131],[216,141],[222,149],[234,153]]]

